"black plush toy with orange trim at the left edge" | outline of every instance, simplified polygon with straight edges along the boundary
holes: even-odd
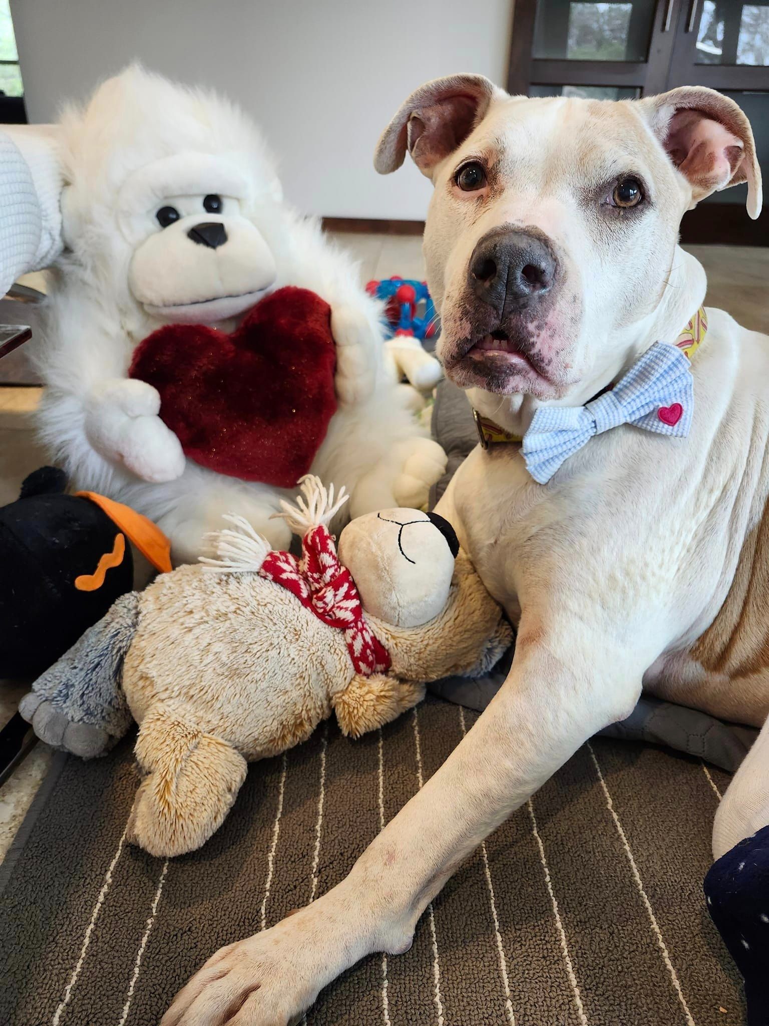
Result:
[[[33,677],[133,586],[129,542],[158,569],[168,542],[151,521],[94,492],[66,495],[42,467],[0,508],[0,678]]]

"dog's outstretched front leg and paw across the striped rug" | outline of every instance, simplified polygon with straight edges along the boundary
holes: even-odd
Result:
[[[638,698],[638,654],[584,625],[575,638],[573,621],[539,623],[550,626],[522,624],[499,694],[350,875],[271,930],[217,952],[162,1026],[286,1026],[364,955],[408,949],[421,912],[482,838]]]

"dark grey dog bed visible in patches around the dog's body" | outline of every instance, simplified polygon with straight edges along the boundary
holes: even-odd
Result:
[[[449,381],[442,381],[436,390],[433,433],[446,450],[448,464],[445,475],[433,487],[431,507],[446,490],[457,467],[478,444],[468,397]],[[485,677],[475,680],[451,677],[430,685],[431,690],[450,702],[482,711],[503,683],[512,660],[511,650]],[[621,740],[665,745],[733,773],[756,740],[758,731],[724,723],[696,709],[643,696],[628,719],[613,723],[602,734]]]

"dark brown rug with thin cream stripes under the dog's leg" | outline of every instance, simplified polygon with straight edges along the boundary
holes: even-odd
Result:
[[[350,742],[332,723],[252,765],[225,827],[164,862],[125,844],[129,744],[57,760],[0,899],[3,1026],[155,1026],[219,946],[333,886],[476,714],[430,700]],[[739,981],[701,898],[728,783],[596,740],[500,827],[413,947],[329,986],[309,1026],[739,1026]]]

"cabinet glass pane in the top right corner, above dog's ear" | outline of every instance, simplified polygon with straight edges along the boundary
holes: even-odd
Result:
[[[703,0],[697,64],[769,65],[769,3]]]

